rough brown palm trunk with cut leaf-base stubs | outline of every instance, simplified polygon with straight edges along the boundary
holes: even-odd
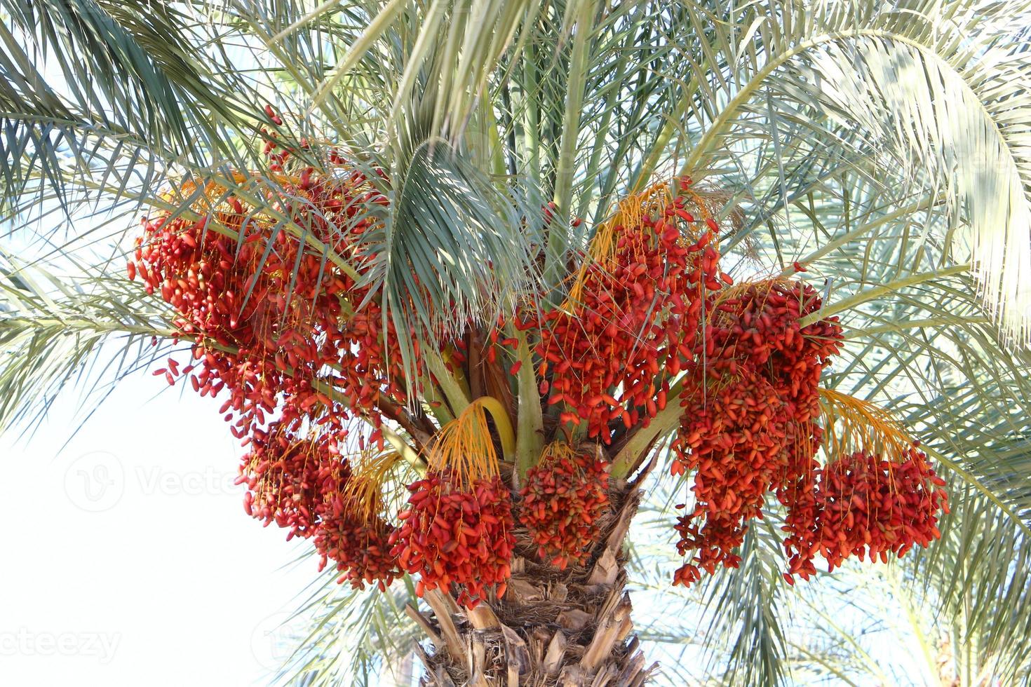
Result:
[[[408,607],[430,638],[432,653],[417,651],[426,666],[422,684],[433,687],[635,686],[644,668],[631,637],[623,543],[640,502],[636,486],[613,500],[612,514],[591,562],[559,571],[542,564],[536,546],[517,531],[518,555],[500,599],[467,611],[440,591],[427,592],[432,614]]]

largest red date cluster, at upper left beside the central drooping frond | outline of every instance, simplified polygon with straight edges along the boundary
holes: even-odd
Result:
[[[275,207],[337,254],[354,251],[369,221],[354,219],[356,208],[377,202],[361,174],[317,177],[306,168],[279,181],[291,200]],[[212,186],[208,196],[220,192]],[[201,219],[144,219],[129,274],[160,293],[175,308],[174,324],[196,338],[193,366],[179,371],[170,362],[157,374],[174,383],[199,366],[191,384],[201,394],[228,390],[221,412],[237,437],[277,408],[291,428],[309,420],[340,431],[352,414],[378,422],[380,402],[406,400],[401,375],[391,374],[400,354],[386,349],[378,307],[353,311],[367,287],[235,196]]]

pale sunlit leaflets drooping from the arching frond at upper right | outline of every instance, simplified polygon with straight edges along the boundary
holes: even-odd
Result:
[[[1031,56],[1016,49],[1012,35],[980,31],[979,21],[962,8],[934,27],[969,27],[976,60],[914,40],[916,26],[829,43],[811,56],[823,77],[814,97],[832,118],[843,112],[886,144],[905,183],[942,191],[950,222],[961,230],[952,233],[954,248],[968,252],[985,307],[1006,341],[1028,345],[1031,98],[1023,83]]]

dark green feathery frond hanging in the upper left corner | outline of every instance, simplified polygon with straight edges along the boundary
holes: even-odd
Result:
[[[33,172],[62,192],[59,158],[93,170],[91,139],[117,146],[123,164],[145,150],[166,163],[228,157],[242,166],[232,132],[257,131],[254,106],[242,104],[251,89],[199,58],[199,18],[104,0],[12,0],[5,12],[0,117],[15,143],[0,170],[5,199]]]

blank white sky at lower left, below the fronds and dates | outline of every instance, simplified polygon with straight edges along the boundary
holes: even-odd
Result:
[[[0,436],[0,685],[268,684],[315,560],[243,512],[221,402],[134,375],[61,450],[77,401]]]

